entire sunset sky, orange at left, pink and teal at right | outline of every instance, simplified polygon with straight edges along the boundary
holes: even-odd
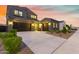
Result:
[[[67,24],[79,27],[79,5],[22,5],[21,7],[27,7],[36,13],[38,20],[49,17],[64,20]],[[2,21],[2,18],[5,19],[4,10],[6,10],[6,7],[0,6],[0,23],[5,22],[5,20]]]

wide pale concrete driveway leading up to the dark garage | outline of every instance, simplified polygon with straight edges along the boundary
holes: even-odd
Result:
[[[55,52],[66,40],[46,34],[45,32],[18,32],[23,42],[36,54],[50,54]]]

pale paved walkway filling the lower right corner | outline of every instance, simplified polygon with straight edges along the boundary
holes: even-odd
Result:
[[[65,42],[58,50],[54,53],[56,54],[79,54],[79,30],[73,34],[67,42]]]

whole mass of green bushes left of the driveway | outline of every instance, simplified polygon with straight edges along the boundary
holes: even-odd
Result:
[[[0,38],[2,39],[4,48],[8,53],[17,53],[20,50],[22,38],[16,35],[16,30],[9,32],[1,32]]]

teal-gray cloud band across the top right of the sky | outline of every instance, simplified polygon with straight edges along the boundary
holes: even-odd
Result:
[[[41,5],[41,8],[49,11],[60,11],[64,13],[79,13],[79,5]]]

